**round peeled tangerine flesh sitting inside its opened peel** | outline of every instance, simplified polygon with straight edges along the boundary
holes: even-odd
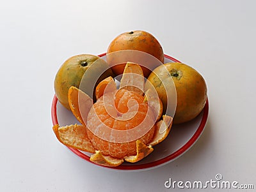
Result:
[[[106,93],[93,104],[93,108],[88,114],[88,122],[86,124],[88,127],[88,138],[92,142],[93,147],[106,156],[124,158],[126,156],[136,155],[136,140],[131,142],[116,142],[116,140],[112,140],[109,142],[106,138],[111,138],[111,129],[125,131],[139,126],[146,118],[146,115],[149,121],[150,119],[154,121],[154,113],[148,108],[147,103],[143,102],[144,97],[134,91],[120,89],[115,93],[114,104],[112,100],[113,93]],[[129,108],[129,100],[138,102],[138,112],[136,112],[135,115],[134,110],[137,111],[137,109],[134,107]],[[109,115],[106,109],[108,106],[116,108],[115,117]],[[124,121],[124,119],[128,120]],[[150,142],[154,136],[154,122],[147,123],[153,124],[153,127],[148,128],[149,131],[139,138],[144,144]],[[108,126],[110,131],[106,130],[104,126]],[[102,132],[104,132],[105,138],[100,138],[95,135],[95,131],[91,131],[92,129],[95,130],[95,128],[97,128],[97,130],[103,128]],[[120,135],[120,138],[122,137],[127,137],[127,135]]]

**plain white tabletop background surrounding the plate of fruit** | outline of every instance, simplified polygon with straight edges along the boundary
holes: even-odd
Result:
[[[216,174],[256,188],[255,6],[255,1],[1,1],[0,191],[175,191],[164,188],[170,177],[209,181]],[[209,120],[198,142],[172,163],[116,172],[77,158],[56,140],[53,82],[68,57],[106,52],[118,34],[138,29],[154,34],[165,54],[204,76]]]

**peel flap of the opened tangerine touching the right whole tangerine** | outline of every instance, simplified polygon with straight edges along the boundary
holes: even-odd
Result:
[[[163,114],[163,103],[159,99],[157,92],[152,91],[152,89],[148,89],[145,92],[144,102],[147,102],[148,105],[153,109],[157,117],[156,121],[159,121]]]

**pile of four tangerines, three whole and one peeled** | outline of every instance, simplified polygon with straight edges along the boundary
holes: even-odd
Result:
[[[54,90],[80,122],[54,125],[56,137],[92,153],[90,160],[103,166],[145,158],[173,123],[194,119],[207,99],[204,78],[186,64],[164,64],[159,41],[145,31],[117,36],[106,61],[89,54],[70,57],[56,74]],[[173,114],[168,103],[175,103]]]

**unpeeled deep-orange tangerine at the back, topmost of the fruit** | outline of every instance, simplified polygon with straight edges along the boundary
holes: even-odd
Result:
[[[111,41],[107,54],[116,52],[119,50],[139,50],[153,55],[159,61],[164,63],[164,53],[159,41],[150,33],[146,31],[131,31],[118,35],[113,41]],[[128,61],[127,61],[128,62]],[[112,66],[112,70],[115,75],[120,75],[124,72],[125,63]],[[144,77],[148,77],[150,70],[141,66]]]

